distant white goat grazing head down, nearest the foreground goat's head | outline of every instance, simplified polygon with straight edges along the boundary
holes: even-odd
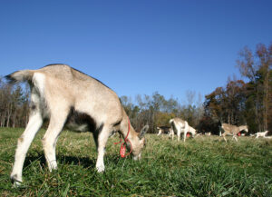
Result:
[[[193,137],[196,134],[196,130],[190,127],[187,121],[183,121],[180,118],[170,119],[170,125],[172,128],[172,132],[170,133],[172,135],[172,140],[174,139],[174,132],[178,135],[178,141],[180,141],[180,133],[183,133],[184,142],[186,141],[187,133],[191,133]]]

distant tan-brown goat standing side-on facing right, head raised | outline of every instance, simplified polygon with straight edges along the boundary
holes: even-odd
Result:
[[[232,139],[234,138],[236,142],[238,142],[238,133],[241,131],[246,131],[248,133],[248,125],[242,125],[242,126],[236,126],[236,125],[231,125],[229,123],[222,123],[220,126],[220,132],[224,131],[225,133],[221,134],[223,136],[225,142],[227,143],[226,135],[233,135]]]

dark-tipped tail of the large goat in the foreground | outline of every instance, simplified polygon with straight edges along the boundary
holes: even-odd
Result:
[[[13,74],[8,74],[5,76],[5,79],[9,84],[15,84],[17,82],[31,82],[34,75],[33,70],[22,70],[16,71]]]

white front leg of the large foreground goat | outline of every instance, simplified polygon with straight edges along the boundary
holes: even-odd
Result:
[[[97,172],[104,172],[105,165],[104,165],[104,153],[106,148],[106,143],[108,141],[109,135],[110,135],[110,127],[109,126],[103,126],[101,133],[98,134],[98,139],[94,139],[97,143],[97,161],[96,161],[96,170]],[[97,135],[93,135],[94,137]]]

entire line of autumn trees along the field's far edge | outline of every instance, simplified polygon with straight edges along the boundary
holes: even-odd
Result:
[[[131,99],[121,96],[121,103],[131,124],[140,130],[150,125],[150,133],[157,126],[169,125],[170,118],[180,117],[199,132],[219,133],[220,123],[248,124],[250,133],[272,130],[272,44],[257,44],[253,52],[248,47],[239,53],[237,67],[243,79],[228,77],[227,85],[217,87],[202,96],[187,91],[180,102],[166,99],[158,92],[137,95]],[[30,93],[27,85],[6,84],[0,77],[0,126],[25,127],[28,121]]]

